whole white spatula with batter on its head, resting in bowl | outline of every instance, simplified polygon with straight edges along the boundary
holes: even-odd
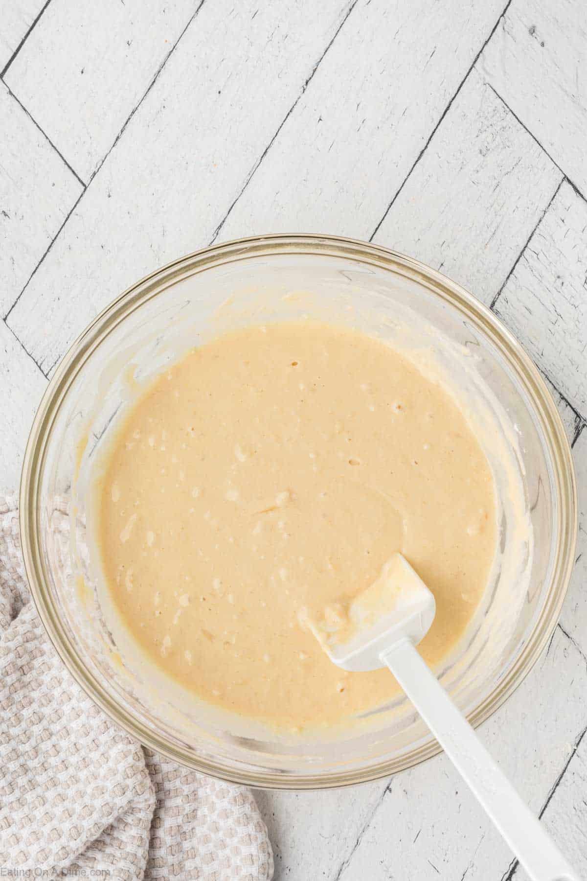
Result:
[[[348,608],[308,625],[343,670],[389,667],[532,881],[579,881],[416,651],[435,612],[434,596],[397,553]]]

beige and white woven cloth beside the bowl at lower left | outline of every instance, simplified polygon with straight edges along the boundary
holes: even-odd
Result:
[[[267,829],[247,789],[143,749],[70,677],[31,602],[16,500],[2,496],[0,665],[4,874],[273,876]]]

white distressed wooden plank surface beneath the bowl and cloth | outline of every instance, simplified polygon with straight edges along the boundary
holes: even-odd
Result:
[[[96,311],[238,235],[373,238],[532,353],[581,530],[548,651],[481,737],[587,876],[587,21],[583,0],[0,0],[0,485]],[[275,878],[524,877],[444,757],[259,793]]]

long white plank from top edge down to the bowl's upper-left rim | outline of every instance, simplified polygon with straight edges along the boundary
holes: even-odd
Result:
[[[7,319],[44,369],[136,278],[210,241],[348,10],[203,4]]]

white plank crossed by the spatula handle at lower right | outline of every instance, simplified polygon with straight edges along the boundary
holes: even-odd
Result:
[[[583,658],[557,628],[550,650],[480,729],[481,740],[534,811],[546,802],[587,724],[585,688]],[[586,857],[576,865],[579,875],[587,870]],[[504,877],[511,859],[509,848],[443,755],[393,778],[340,881],[487,881]],[[302,881],[301,875],[288,877]]]

